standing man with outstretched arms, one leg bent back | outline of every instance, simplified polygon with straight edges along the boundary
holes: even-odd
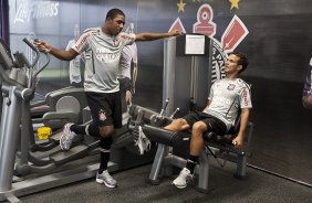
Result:
[[[108,171],[112,135],[122,127],[122,98],[117,79],[121,53],[125,45],[135,41],[152,41],[181,34],[179,31],[169,33],[123,33],[125,14],[119,9],[107,12],[105,23],[98,28],[84,31],[69,51],[59,50],[39,41],[37,47],[49,52],[60,60],[73,60],[85,53],[84,90],[91,109],[93,122],[87,126],[66,124],[60,139],[63,150],[69,150],[76,133],[100,137],[101,161],[96,182],[108,188],[117,185]]]

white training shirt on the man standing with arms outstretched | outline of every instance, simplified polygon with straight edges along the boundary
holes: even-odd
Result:
[[[117,36],[103,33],[101,26],[87,29],[72,46],[77,53],[85,52],[85,92],[115,93],[119,90],[117,79],[121,53],[125,45],[135,41],[133,33]]]

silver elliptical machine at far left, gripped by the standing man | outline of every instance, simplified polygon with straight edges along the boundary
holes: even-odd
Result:
[[[13,58],[9,46],[0,40],[3,96],[0,128],[0,201],[18,202],[17,196],[92,178],[98,168],[98,163],[94,161],[74,168],[61,168],[66,162],[86,157],[97,148],[97,140],[92,145],[75,146],[67,152],[58,151],[58,132],[44,143],[34,140],[30,100],[34,96],[35,78],[48,66],[50,56],[46,54],[46,62],[33,72],[40,53],[28,39],[23,41],[37,53],[32,64],[22,53],[13,54]],[[28,68],[28,74],[24,67]],[[38,151],[44,151],[49,157],[32,156],[32,152]]]

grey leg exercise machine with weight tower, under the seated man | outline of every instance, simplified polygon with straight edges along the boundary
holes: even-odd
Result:
[[[207,36],[205,36],[207,38]],[[183,40],[181,40],[183,39]],[[175,152],[186,150],[180,148],[181,142],[189,146],[190,135],[187,132],[173,132],[162,129],[173,119],[178,111],[178,117],[185,116],[195,109],[204,109],[207,106],[208,93],[211,86],[212,43],[207,38],[209,45],[202,54],[184,54],[186,45],[185,36],[176,36],[165,40],[164,43],[164,86],[163,109],[160,114],[139,106],[133,106],[131,110],[133,129],[142,126],[146,137],[158,142],[157,152],[148,177],[152,184],[159,183],[160,174],[173,174],[171,167],[184,168],[186,159]],[[188,94],[189,93],[189,94]],[[169,103],[170,100],[170,103]],[[169,104],[168,104],[169,103]],[[176,109],[176,110],[175,110]],[[171,116],[169,113],[174,113]],[[250,122],[246,136],[246,146],[249,146],[253,125]],[[134,130],[136,131],[136,130]],[[184,145],[184,146],[185,146]],[[207,153],[215,158],[227,159],[237,163],[236,177],[246,177],[248,149],[238,150],[233,146],[206,141],[207,149],[202,149],[199,156],[199,164],[195,168],[198,175],[197,190],[208,193],[209,159]]]

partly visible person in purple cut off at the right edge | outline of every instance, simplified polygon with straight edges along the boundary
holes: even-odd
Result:
[[[312,58],[310,61],[309,70],[305,77],[305,83],[302,93],[302,104],[305,108],[312,109]]]

